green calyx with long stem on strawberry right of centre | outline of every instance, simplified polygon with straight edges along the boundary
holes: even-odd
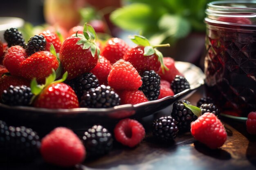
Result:
[[[158,51],[156,48],[157,47],[169,47],[170,44],[159,44],[159,45],[151,45],[149,40],[146,39],[142,35],[133,35],[129,36],[130,40],[134,42],[137,45],[144,46],[144,56],[150,56],[150,55],[157,55],[158,61],[161,64],[162,71],[164,73],[164,70],[168,71],[169,69],[165,66],[164,61],[163,61],[163,54]]]

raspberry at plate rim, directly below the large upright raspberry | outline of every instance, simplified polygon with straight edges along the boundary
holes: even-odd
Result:
[[[121,91],[118,95],[121,98],[121,104],[138,104],[148,102],[147,97],[142,91]]]

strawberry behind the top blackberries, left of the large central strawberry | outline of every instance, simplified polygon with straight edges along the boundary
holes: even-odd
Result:
[[[47,30],[40,33],[40,35],[43,35],[46,39],[45,51],[50,51],[50,46],[53,44],[56,53],[60,52],[61,40],[56,33]]]

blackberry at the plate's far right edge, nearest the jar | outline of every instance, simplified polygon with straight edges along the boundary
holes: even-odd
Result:
[[[171,82],[171,89],[175,94],[189,89],[190,85],[188,80],[182,75],[176,75],[175,79]]]

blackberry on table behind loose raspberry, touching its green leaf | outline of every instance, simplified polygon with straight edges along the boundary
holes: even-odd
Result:
[[[190,102],[183,100],[173,104],[173,111],[171,116],[177,121],[177,126],[180,131],[190,130],[190,124],[197,119],[192,111],[184,106],[184,103],[190,104]]]

